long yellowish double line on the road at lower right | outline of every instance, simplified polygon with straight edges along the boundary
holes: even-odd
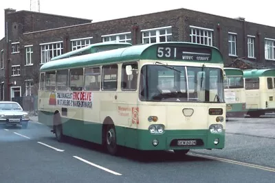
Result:
[[[239,162],[239,161],[236,161],[236,160],[229,160],[229,159],[225,159],[225,158],[217,158],[217,157],[214,157],[214,156],[206,156],[206,155],[194,154],[194,153],[189,153],[189,155],[199,156],[199,157],[208,158],[208,159],[211,159],[211,160],[218,160],[218,161],[222,161],[222,162],[229,162],[229,163],[232,163],[232,164],[243,165],[245,167],[252,167],[252,168],[255,168],[255,169],[262,169],[262,170],[265,170],[265,171],[275,172],[275,169],[272,168],[272,167],[263,167],[263,166],[260,166],[260,165],[251,164],[251,163],[247,163],[247,162]]]

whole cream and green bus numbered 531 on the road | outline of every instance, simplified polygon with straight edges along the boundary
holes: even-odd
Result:
[[[58,141],[79,138],[110,154],[121,146],[177,154],[223,149],[223,92],[217,48],[134,45],[43,64],[39,122]]]

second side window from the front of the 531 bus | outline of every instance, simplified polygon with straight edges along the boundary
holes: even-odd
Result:
[[[102,90],[116,90],[118,88],[118,65],[102,66]]]

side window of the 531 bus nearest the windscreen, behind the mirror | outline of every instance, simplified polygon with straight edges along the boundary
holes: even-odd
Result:
[[[131,75],[126,74],[127,65],[131,65],[132,69],[134,69]],[[122,64],[122,90],[137,90],[137,74],[137,63]]]

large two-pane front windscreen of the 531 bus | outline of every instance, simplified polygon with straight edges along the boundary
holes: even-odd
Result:
[[[145,65],[140,77],[142,101],[223,102],[221,69]]]

